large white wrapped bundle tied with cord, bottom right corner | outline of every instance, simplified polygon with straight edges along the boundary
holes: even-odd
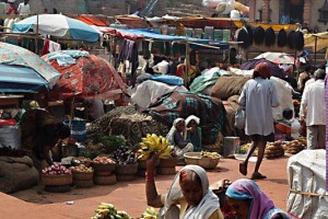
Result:
[[[303,150],[288,162],[288,212],[302,219],[328,217],[326,150]]]

